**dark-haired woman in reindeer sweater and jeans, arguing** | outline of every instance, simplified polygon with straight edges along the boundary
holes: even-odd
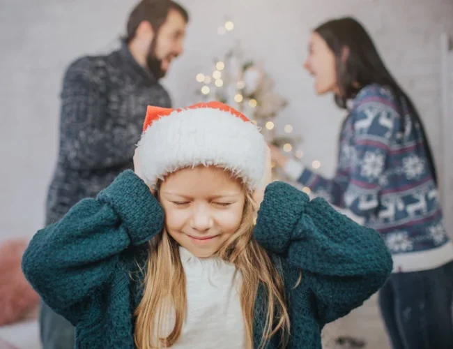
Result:
[[[379,305],[394,349],[453,348],[453,244],[443,226],[436,167],[422,120],[367,31],[346,17],[316,28],[304,68],[317,94],[348,110],[335,177],[271,147],[291,179],[381,232],[394,271]],[[341,262],[341,261],[339,261]]]

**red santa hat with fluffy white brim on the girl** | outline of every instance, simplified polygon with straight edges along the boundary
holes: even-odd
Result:
[[[148,106],[138,156],[146,184],[181,168],[215,165],[253,191],[264,173],[263,135],[245,115],[219,102],[184,109]]]

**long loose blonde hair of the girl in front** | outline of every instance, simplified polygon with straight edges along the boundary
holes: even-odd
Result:
[[[289,314],[282,277],[266,251],[252,237],[256,205],[247,193],[243,220],[217,252],[218,257],[233,263],[242,276],[240,304],[246,331],[246,347],[252,349],[255,299],[259,287],[267,296],[266,322],[260,348],[280,332],[282,347],[289,338]],[[156,282],[157,281],[157,282]],[[135,311],[135,345],[140,349],[168,348],[181,336],[186,315],[185,274],[178,245],[164,229],[151,239],[148,253],[144,295]],[[170,297],[176,315],[174,328],[166,337],[161,336],[162,323],[168,314],[165,301]]]

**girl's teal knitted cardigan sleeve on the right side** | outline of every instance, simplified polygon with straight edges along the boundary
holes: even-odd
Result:
[[[321,198],[310,202],[282,182],[266,188],[254,236],[268,251],[302,269],[321,325],[360,306],[392,271],[392,257],[378,232],[339,214]]]

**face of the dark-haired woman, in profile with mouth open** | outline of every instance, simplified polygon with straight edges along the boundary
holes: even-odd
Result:
[[[315,78],[314,89],[316,94],[337,93],[335,54],[316,32],[310,38],[309,52],[304,68]]]

